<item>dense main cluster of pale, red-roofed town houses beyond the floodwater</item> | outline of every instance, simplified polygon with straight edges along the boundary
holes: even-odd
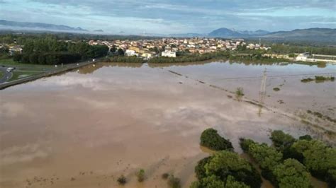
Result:
[[[89,45],[107,45],[110,52],[123,50],[126,56],[142,57],[177,57],[181,52],[191,54],[206,54],[217,51],[235,50],[245,46],[246,49],[264,49],[260,44],[250,43],[247,45],[243,39],[222,40],[216,38],[162,38],[159,40],[114,40],[101,41],[90,40]]]

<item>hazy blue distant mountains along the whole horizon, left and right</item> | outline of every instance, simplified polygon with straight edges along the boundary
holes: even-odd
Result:
[[[16,22],[9,20],[0,20],[0,30],[35,30],[35,31],[58,31],[70,33],[103,33],[103,30],[85,30],[83,28],[73,28],[68,25],[54,25],[49,23],[30,23]],[[120,32],[118,35],[125,35]],[[264,40],[278,41],[316,41],[336,43],[336,29],[330,28],[308,28],[291,31],[269,32],[267,30],[234,30],[228,28],[219,28],[211,31],[211,33],[185,33],[185,34],[153,34],[146,33],[147,36],[171,36],[171,37],[222,37],[222,38],[263,38]]]

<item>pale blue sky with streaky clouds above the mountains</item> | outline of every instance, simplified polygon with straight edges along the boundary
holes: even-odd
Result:
[[[0,19],[106,33],[336,28],[336,0],[0,0]]]

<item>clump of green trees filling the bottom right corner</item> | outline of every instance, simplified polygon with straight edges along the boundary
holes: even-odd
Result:
[[[240,139],[242,150],[257,161],[262,176],[276,187],[310,187],[310,174],[336,186],[336,149],[311,136],[293,136],[273,131],[274,147]]]

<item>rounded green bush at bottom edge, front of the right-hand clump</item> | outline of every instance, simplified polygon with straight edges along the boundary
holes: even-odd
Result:
[[[273,171],[277,187],[311,187],[310,174],[298,160],[287,159]]]

